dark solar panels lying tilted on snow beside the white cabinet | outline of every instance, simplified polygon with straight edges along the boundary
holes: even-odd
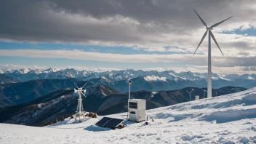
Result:
[[[119,125],[122,124],[124,120],[125,119],[114,119],[114,118],[103,117],[103,119],[100,119],[100,121],[97,121],[95,125],[100,127],[116,128],[116,127],[119,127]]]

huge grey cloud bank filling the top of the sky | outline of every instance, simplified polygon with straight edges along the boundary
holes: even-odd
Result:
[[[19,7],[19,9],[13,9]],[[145,51],[193,52],[205,28],[227,17],[213,32],[256,28],[256,2],[252,0],[99,0],[2,1],[0,41],[54,42],[125,46]],[[250,17],[248,17],[248,15]],[[223,48],[237,53],[252,50],[255,36],[216,34]],[[206,40],[205,40],[206,41]],[[172,46],[170,49],[164,46]],[[207,42],[199,52],[207,53]]]

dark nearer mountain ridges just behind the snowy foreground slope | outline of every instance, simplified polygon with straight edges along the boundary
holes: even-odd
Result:
[[[146,100],[146,108],[159,108],[177,103],[189,101],[189,95],[186,91],[191,91],[191,100],[199,95],[204,98],[204,89],[197,87],[188,87],[172,91],[139,91],[132,92],[132,98]],[[212,89],[213,97],[225,95],[233,92],[245,90],[241,87],[223,87],[221,89]],[[122,113],[127,111],[128,95],[120,93],[107,86],[97,86],[87,88],[87,97],[83,97],[84,111],[96,112],[99,115]],[[25,95],[20,96],[26,97]],[[207,95],[205,95],[207,97]],[[47,95],[38,97],[26,103],[6,106],[0,108],[0,122],[8,124],[24,124],[32,126],[42,126],[45,122],[55,121],[62,117],[70,116],[75,113],[78,103],[77,93],[73,89],[61,89],[51,92]],[[125,116],[124,116],[125,117]]]

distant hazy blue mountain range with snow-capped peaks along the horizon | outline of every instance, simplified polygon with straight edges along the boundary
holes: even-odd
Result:
[[[151,92],[160,90],[174,90],[185,87],[207,87],[207,73],[193,73],[175,71],[142,71],[142,70],[121,70],[121,71],[77,71],[73,68],[57,70],[49,68],[44,71],[20,69],[0,70],[2,76],[7,76],[12,81],[5,81],[0,76],[0,84],[13,82],[24,82],[36,79],[79,79],[80,81],[92,81],[93,86],[105,85],[116,89],[119,92],[128,92],[127,80],[131,79],[131,91],[147,90]],[[217,74],[212,73],[212,88],[221,87],[256,87],[255,74]]]

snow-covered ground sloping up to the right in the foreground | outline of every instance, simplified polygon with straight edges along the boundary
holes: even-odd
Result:
[[[147,114],[155,121],[127,121],[127,127],[116,130],[95,126],[102,117],[82,123],[65,119],[49,127],[0,124],[0,143],[256,143],[256,88]]]

